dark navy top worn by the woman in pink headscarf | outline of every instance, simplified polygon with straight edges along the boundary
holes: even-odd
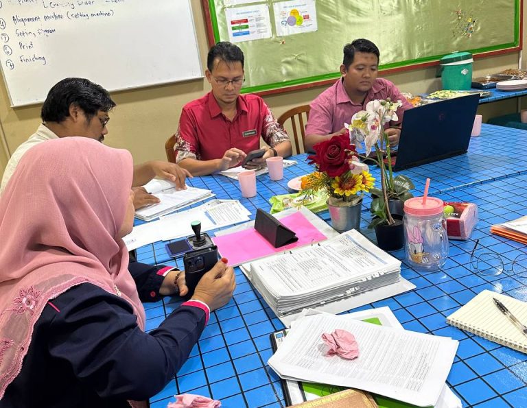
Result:
[[[161,267],[130,263],[141,300],[159,300]],[[182,306],[144,333],[126,300],[84,283],[52,300],[34,326],[19,376],[1,408],[121,408],[148,400],[185,362],[204,325],[202,309]]]

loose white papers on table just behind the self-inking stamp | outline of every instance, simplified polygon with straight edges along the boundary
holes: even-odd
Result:
[[[196,208],[161,217],[157,221],[135,226],[123,238],[131,251],[156,241],[168,241],[194,235],[192,221],[201,222],[202,232],[249,220],[250,212],[238,200],[211,200]]]

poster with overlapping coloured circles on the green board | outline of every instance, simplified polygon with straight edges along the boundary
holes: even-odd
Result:
[[[290,36],[317,30],[315,0],[273,3],[277,36]]]

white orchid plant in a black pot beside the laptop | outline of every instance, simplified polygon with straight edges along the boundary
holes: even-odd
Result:
[[[366,158],[375,147],[375,161],[380,169],[381,188],[371,189],[373,200],[371,212],[374,217],[368,228],[375,228],[377,244],[385,250],[396,250],[403,246],[403,224],[401,204],[412,197],[414,184],[406,176],[393,176],[390,143],[384,131],[386,123],[397,120],[397,108],[401,101],[375,99],[366,104],[366,110],[355,113],[348,125],[350,140],[364,143]],[[384,155],[386,154],[386,160]]]

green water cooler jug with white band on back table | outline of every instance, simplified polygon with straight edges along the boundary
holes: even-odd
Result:
[[[472,85],[472,54],[455,52],[441,58],[443,89],[467,91]]]

